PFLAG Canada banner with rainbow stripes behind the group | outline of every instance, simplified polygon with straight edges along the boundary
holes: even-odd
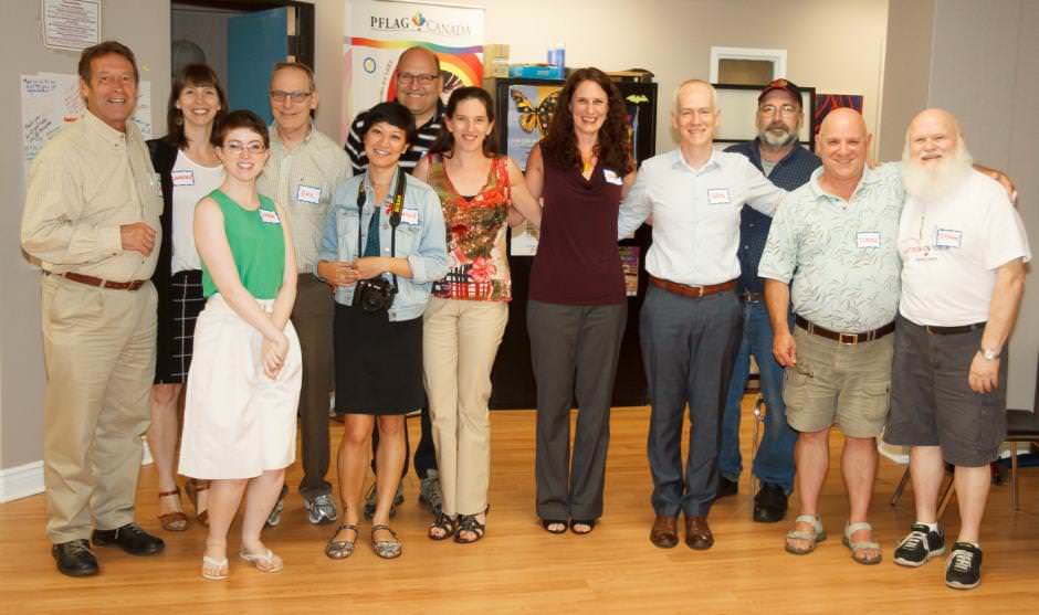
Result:
[[[396,0],[346,3],[340,140],[358,112],[397,96],[393,71],[406,49],[421,45],[440,59],[443,100],[483,79],[483,9]]]

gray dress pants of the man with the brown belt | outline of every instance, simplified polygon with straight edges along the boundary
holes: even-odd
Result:
[[[722,411],[743,315],[734,293],[691,298],[650,286],[640,337],[652,413],[649,463],[658,515],[706,516],[717,490]],[[682,423],[691,434],[682,471]]]

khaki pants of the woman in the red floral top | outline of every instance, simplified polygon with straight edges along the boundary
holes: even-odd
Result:
[[[491,368],[508,320],[504,301],[431,298],[422,316],[426,395],[448,516],[487,507]]]

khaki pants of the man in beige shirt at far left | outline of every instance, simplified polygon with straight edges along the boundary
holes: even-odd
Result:
[[[42,287],[46,533],[61,543],[134,521],[156,293],[150,282],[116,290],[53,275]]]

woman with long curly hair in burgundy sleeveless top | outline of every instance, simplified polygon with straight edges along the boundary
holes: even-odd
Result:
[[[544,198],[527,330],[537,382],[537,516],[552,533],[567,523],[588,533],[602,515],[610,399],[628,316],[617,213],[633,181],[620,93],[598,68],[574,72],[526,174],[531,192]]]

